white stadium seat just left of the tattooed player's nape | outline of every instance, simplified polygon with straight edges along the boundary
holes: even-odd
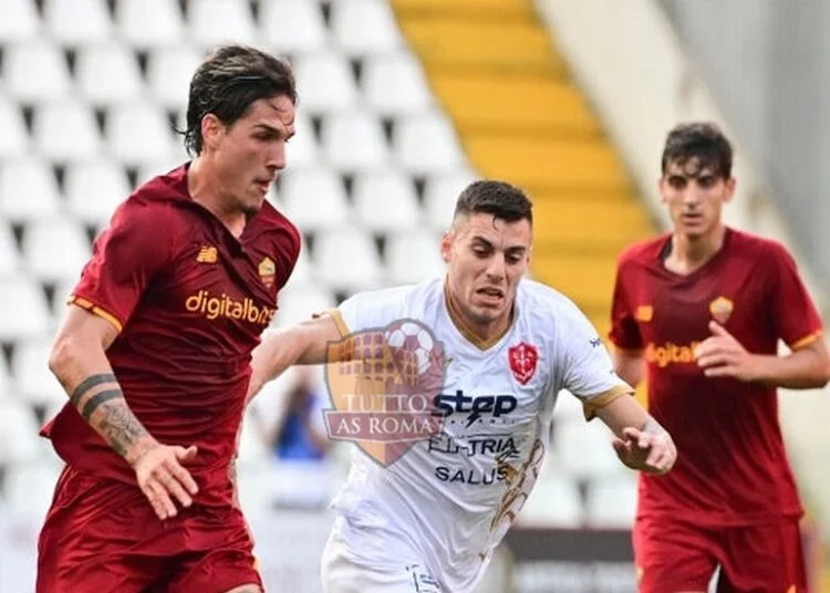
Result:
[[[136,101],[113,106],[105,136],[112,156],[126,166],[166,160],[176,152],[164,112],[152,103]]]

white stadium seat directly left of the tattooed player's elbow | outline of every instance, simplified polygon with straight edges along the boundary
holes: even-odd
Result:
[[[18,381],[18,393],[31,405],[54,407],[66,402],[66,393],[49,371],[51,351],[51,337],[23,342],[14,348],[11,371]]]

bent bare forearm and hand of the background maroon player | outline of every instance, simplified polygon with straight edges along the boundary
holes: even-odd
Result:
[[[710,322],[712,335],[695,350],[707,377],[732,377],[789,389],[812,389],[830,381],[830,355],[819,336],[787,356],[753,354],[723,325]]]

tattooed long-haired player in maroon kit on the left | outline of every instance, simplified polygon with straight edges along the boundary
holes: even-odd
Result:
[[[195,158],[139,187],[96,240],[54,341],[70,395],[38,592],[261,591],[232,460],[250,355],[300,249],[267,201],[294,133],[293,74],[227,45],[196,70]]]

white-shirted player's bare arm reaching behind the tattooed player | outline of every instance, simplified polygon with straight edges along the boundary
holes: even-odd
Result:
[[[331,314],[319,315],[290,327],[263,334],[251,355],[251,379],[246,404],[269,381],[294,364],[323,364],[329,342],[341,340],[340,329]]]

